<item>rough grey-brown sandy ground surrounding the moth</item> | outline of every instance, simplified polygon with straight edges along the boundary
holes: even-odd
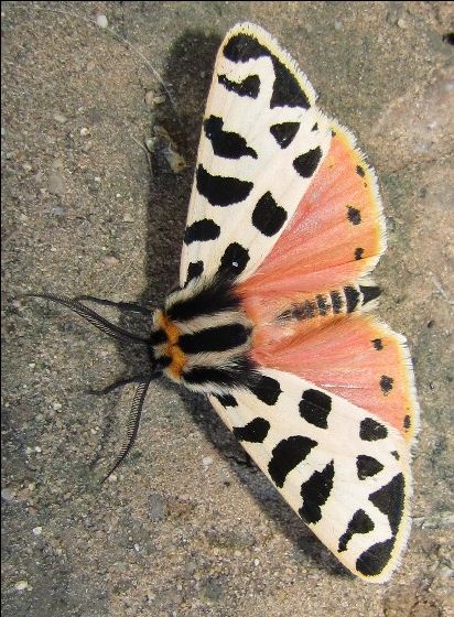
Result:
[[[3,2],[6,616],[454,614],[453,17],[450,2]],[[133,454],[100,488],[133,390],[89,389],[147,358],[64,310],[15,300],[162,301],[216,48],[240,20],[292,53],[380,178],[379,314],[409,339],[423,411],[413,530],[382,586],[346,574],[209,405],[164,380]]]

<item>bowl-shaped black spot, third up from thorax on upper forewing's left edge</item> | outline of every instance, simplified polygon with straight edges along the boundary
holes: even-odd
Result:
[[[252,191],[252,182],[212,175],[203,165],[198,165],[196,172],[197,191],[206,197],[212,206],[231,206],[246,199]]]

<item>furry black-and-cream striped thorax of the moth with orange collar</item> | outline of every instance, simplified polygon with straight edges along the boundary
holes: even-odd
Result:
[[[246,385],[252,324],[231,284],[197,280],[172,292],[153,315],[154,359],[173,381],[203,392]]]

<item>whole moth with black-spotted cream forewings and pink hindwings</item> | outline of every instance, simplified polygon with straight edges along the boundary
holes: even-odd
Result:
[[[353,134],[270,34],[235,25],[214,67],[179,288],[154,311],[41,295],[149,350],[112,470],[164,375],[208,397],[350,572],[387,581],[409,535],[418,403],[404,338],[370,314],[385,249],[377,178]],[[150,332],[84,300],[141,311]]]

